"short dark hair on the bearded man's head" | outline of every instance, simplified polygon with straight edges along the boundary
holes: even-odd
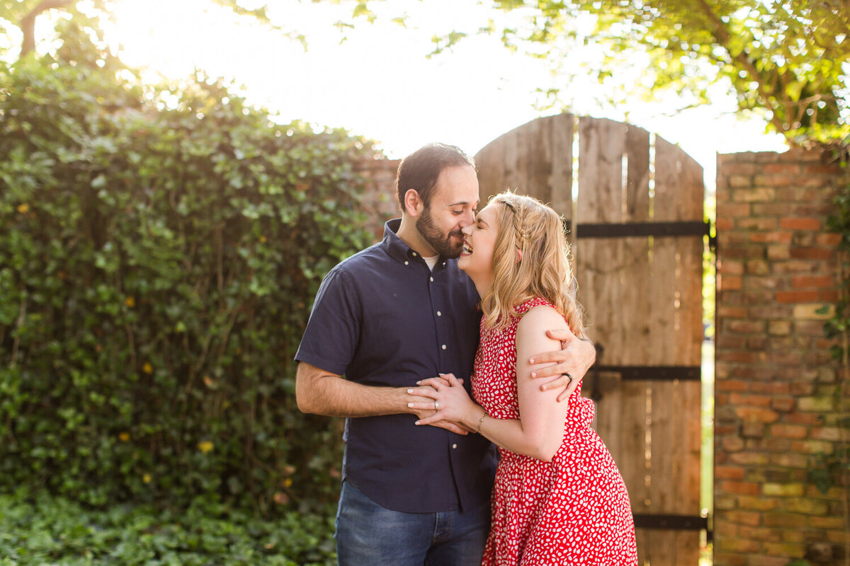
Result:
[[[473,158],[463,153],[462,149],[447,143],[428,143],[401,160],[395,176],[401,210],[405,210],[405,193],[411,188],[419,193],[422,204],[430,205],[431,191],[437,184],[439,174],[446,167],[460,165],[470,165],[475,169]]]

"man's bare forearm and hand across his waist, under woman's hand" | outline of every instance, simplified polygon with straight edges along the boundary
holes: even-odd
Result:
[[[298,410],[327,417],[377,417],[411,413],[423,418],[433,415],[434,411],[411,409],[408,405],[416,402],[433,403],[433,400],[411,395],[407,391],[406,387],[356,384],[306,361],[298,362],[295,373]],[[467,434],[467,430],[456,423],[440,421],[434,423],[434,426],[457,434]]]

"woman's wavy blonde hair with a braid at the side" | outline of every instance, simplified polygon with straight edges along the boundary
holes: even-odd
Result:
[[[576,336],[585,338],[561,217],[541,201],[511,191],[496,194],[490,203],[498,204],[499,233],[493,250],[493,286],[481,300],[484,327],[507,327],[518,316],[519,305],[542,297],[555,306]],[[522,251],[520,261],[517,249]]]

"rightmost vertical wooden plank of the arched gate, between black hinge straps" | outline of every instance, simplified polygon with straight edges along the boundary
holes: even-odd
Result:
[[[702,190],[684,182],[689,156],[655,140],[653,219],[701,220]],[[701,183],[701,182],[700,182]],[[701,329],[701,245],[694,238],[655,238],[652,249],[650,333],[655,363],[698,365]],[[700,264],[694,269],[695,263]],[[700,295],[700,296],[697,296]],[[694,315],[694,312],[696,313]],[[700,384],[652,385],[650,501],[654,513],[698,514]],[[694,478],[696,481],[694,482]],[[699,561],[699,533],[660,531],[649,541],[653,564]]]

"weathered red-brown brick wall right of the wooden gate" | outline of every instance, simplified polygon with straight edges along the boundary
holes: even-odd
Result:
[[[847,446],[836,393],[847,375],[816,312],[836,300],[839,236],[825,219],[850,181],[829,157],[717,158],[717,565],[844,564],[846,492],[821,493],[811,476]]]

